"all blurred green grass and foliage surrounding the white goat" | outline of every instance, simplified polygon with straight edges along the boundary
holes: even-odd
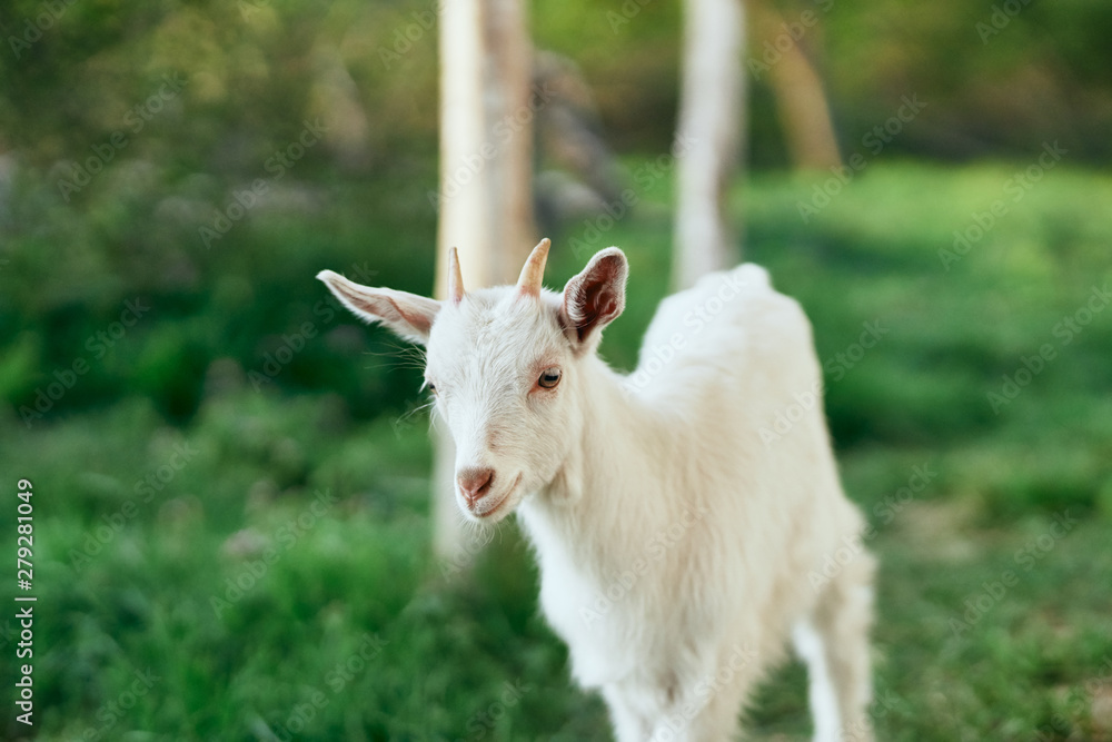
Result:
[[[300,720],[304,739],[604,729],[600,702],[568,685],[513,530],[461,588],[430,562],[415,359],[312,279],[331,268],[431,286],[435,8],[0,9],[0,451],[6,471],[34,473],[48,514],[37,532],[50,606],[37,624],[40,739],[269,739],[264,726],[292,729],[318,691],[328,703]],[[1055,334],[1112,278],[1112,179],[1092,168],[1112,161],[1112,8],[775,8],[783,32],[806,11],[820,18],[802,43],[844,155],[868,152],[864,137],[904,97],[926,102],[804,220],[800,205],[832,190],[831,174],[783,172],[772,91],[754,73],[754,175],[732,191],[746,257],[813,319],[847,489],[883,526],[882,739],[1112,739],[1101,587],[1112,573],[1112,315],[1069,344]],[[672,138],[679,7],[530,9],[537,46],[582,68],[638,196],[613,228],[573,219],[552,234],[547,283],[562,285],[593,249],[626,249],[628,306],[603,353],[631,369],[667,290],[671,176],[634,174]],[[752,38],[751,58],[775,41]],[[1010,198],[1007,184],[1053,141],[1066,162],[946,259],[954,233]],[[866,323],[886,334],[856,355]],[[1058,358],[993,404],[1044,344]],[[182,451],[188,462],[172,466]],[[915,466],[937,475],[890,522],[886,498]],[[327,515],[257,587],[214,610],[321,491],[338,497]],[[137,512],[125,515],[129,503]],[[1081,521],[1069,538],[1039,553],[1014,600],[953,635],[963,601],[1015,568],[1062,513]],[[368,634],[386,649],[335,690],[330,673]],[[11,636],[9,621],[4,652]],[[106,710],[148,666],[150,693],[109,724]],[[11,673],[0,663],[0,684]],[[478,723],[517,680],[530,690]],[[792,666],[754,710],[757,739],[803,739],[804,716]]]

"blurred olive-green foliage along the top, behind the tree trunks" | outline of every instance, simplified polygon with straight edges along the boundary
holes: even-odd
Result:
[[[171,179],[250,176],[306,116],[336,122],[361,157],[346,167],[417,168],[436,148],[436,3],[425,0],[179,2],[12,0],[0,17],[0,145],[49,166],[121,128],[167,73],[180,100],[127,148]],[[767,75],[781,36],[800,37],[827,82],[852,149],[902,96],[929,109],[900,151],[945,158],[1019,155],[1062,139],[1073,157],[1108,162],[1112,8],[1095,0],[761,2],[783,26],[754,31],[754,160],[783,164]],[[679,6],[530,3],[538,48],[576,60],[620,150],[663,150],[675,120]],[[810,16],[808,16],[810,13]],[[811,20],[816,19],[816,20]],[[810,21],[810,22],[808,22]],[[13,40],[14,39],[14,40]],[[27,39],[37,39],[27,41]],[[304,168],[307,172],[310,168]]]

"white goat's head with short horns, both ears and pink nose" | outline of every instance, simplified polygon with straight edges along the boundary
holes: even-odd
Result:
[[[455,248],[444,301],[317,277],[351,311],[426,346],[425,384],[456,443],[456,502],[497,522],[559,473],[583,428],[582,363],[625,306],[616,247],[597,253],[563,294],[542,287],[548,240],[517,286],[465,291]]]

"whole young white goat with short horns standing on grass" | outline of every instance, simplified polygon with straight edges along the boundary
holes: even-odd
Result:
[[[872,739],[874,563],[803,311],[757,266],[708,275],[664,300],[623,376],[596,348],[625,306],[625,255],[602,250],[560,295],[540,286],[547,251],[516,287],[465,294],[453,250],[444,303],[318,278],[427,347],[459,507],[485,523],[520,514],[545,615],[622,742],[731,739],[790,637],[815,739]],[[788,409],[802,416],[763,441]],[[832,570],[835,553],[852,556]]]

